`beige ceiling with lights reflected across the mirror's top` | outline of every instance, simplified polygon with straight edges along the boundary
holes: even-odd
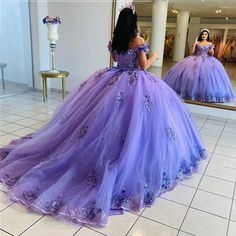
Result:
[[[134,5],[139,16],[152,15],[151,0],[134,0]],[[204,18],[236,18],[236,0],[169,0],[169,17],[176,16],[175,13],[171,12],[172,8],[178,11],[190,11],[191,16]],[[217,8],[222,10],[221,13],[216,13]]]

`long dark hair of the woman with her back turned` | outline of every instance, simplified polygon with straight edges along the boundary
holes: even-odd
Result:
[[[130,8],[124,8],[118,17],[113,32],[112,51],[124,53],[129,48],[129,42],[137,37],[137,14]]]

